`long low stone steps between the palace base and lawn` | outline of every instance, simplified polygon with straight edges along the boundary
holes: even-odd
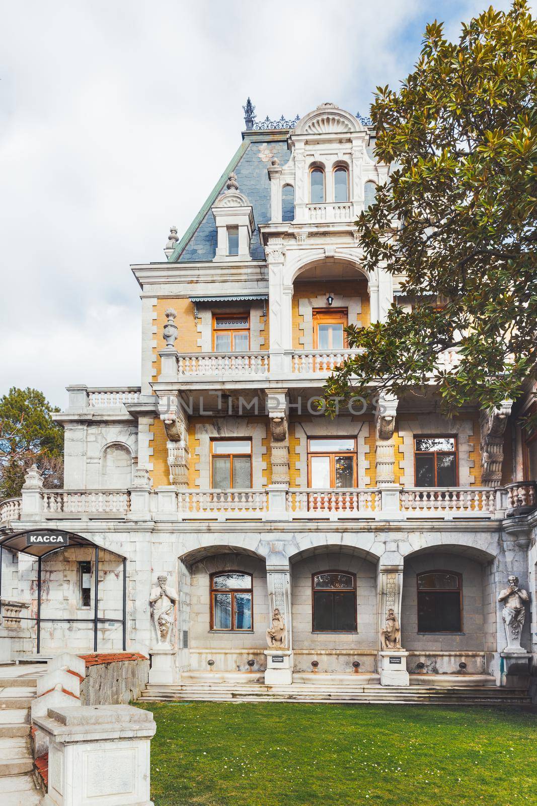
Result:
[[[415,675],[412,675],[414,677]],[[443,681],[425,685],[411,680],[410,686],[381,686],[354,680],[294,682],[291,686],[266,686],[251,682],[188,681],[177,685],[148,684],[141,702],[200,700],[210,702],[304,702],[346,704],[438,704],[438,705],[527,705],[525,688],[497,688],[494,679]],[[448,683],[449,684],[446,684]]]

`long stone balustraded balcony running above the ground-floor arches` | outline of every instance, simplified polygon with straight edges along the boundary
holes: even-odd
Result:
[[[535,482],[519,482],[507,488],[43,490],[37,498],[32,494],[31,505],[21,498],[2,501],[0,527],[14,529],[18,521],[26,520],[123,518],[159,521],[501,520],[537,509],[536,492]],[[517,509],[519,506],[524,509]]]

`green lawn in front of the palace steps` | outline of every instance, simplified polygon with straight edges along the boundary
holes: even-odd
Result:
[[[154,703],[155,806],[537,804],[537,717],[498,708]]]

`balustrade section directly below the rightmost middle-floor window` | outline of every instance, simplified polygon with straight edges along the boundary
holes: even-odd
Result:
[[[400,492],[401,510],[411,517],[490,517],[498,509],[497,492],[489,487],[404,488]]]

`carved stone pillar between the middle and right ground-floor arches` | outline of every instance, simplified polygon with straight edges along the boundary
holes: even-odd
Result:
[[[397,624],[401,623],[401,598],[403,596],[403,563],[382,564],[378,567],[378,636],[386,625],[390,611],[393,611]],[[400,636],[399,636],[400,638]],[[400,640],[399,640],[400,644]],[[378,653],[378,669],[382,686],[407,686],[410,677],[407,672],[407,656],[401,646],[382,647]]]

